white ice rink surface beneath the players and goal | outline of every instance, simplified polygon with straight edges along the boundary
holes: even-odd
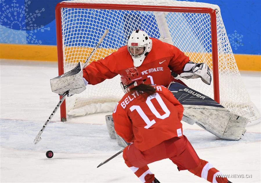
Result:
[[[107,133],[105,115],[111,112],[69,118],[62,123],[59,110],[42,140],[34,145],[35,136],[59,101],[49,82],[58,76],[57,63],[4,59],[0,63],[0,182],[140,182],[122,155],[96,168],[122,149]],[[241,74],[260,111],[261,73]],[[197,125],[183,123],[183,129],[201,159],[224,174],[238,177],[230,178],[231,182],[261,182],[260,123],[248,125],[238,141],[218,139]],[[45,156],[48,150],[54,152],[51,159]],[[207,182],[188,171],[179,172],[168,159],[149,167],[160,182]]]

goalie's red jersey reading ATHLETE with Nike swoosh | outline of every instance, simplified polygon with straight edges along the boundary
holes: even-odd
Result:
[[[151,39],[152,50],[138,68],[147,78],[145,84],[168,86],[174,79],[170,71],[181,74],[189,57],[173,45],[155,38]],[[104,59],[90,63],[83,69],[83,77],[89,84],[96,85],[121,74],[123,70],[130,67],[134,67],[133,60],[127,46],[123,46]]]

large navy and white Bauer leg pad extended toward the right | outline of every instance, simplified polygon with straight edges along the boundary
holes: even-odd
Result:
[[[179,83],[170,83],[168,89],[184,107],[182,121],[196,123],[215,136],[238,140],[246,132],[247,118],[231,113],[212,98]]]

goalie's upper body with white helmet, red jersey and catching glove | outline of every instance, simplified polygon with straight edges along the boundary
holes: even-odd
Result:
[[[191,62],[177,47],[150,38],[142,30],[133,31],[127,45],[118,51],[87,65],[83,69],[83,77],[88,84],[96,85],[130,67],[139,68],[147,78],[145,84],[168,86],[175,80],[171,71],[186,79],[200,77],[204,83],[211,83],[209,68],[205,63]]]

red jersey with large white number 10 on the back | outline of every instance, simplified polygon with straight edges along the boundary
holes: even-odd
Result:
[[[112,114],[116,133],[141,151],[183,136],[183,106],[167,88],[154,87],[155,96],[147,99],[137,92],[125,94]]]

